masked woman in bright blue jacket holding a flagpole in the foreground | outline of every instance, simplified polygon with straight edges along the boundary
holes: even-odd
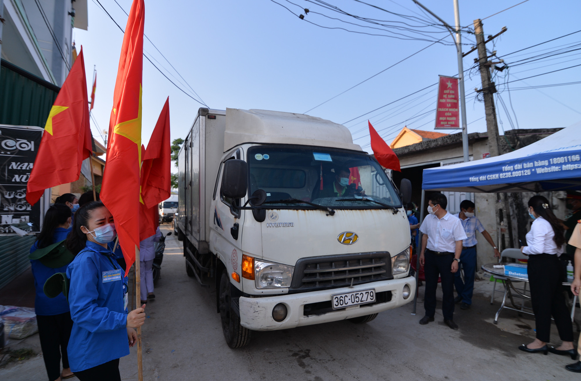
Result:
[[[121,380],[119,358],[137,340],[145,310],[127,313],[127,278],[107,243],[117,235],[113,216],[98,201],[77,210],[67,249],[75,255],[67,268],[73,329],[71,371],[81,381]],[[145,305],[143,306],[145,307]]]

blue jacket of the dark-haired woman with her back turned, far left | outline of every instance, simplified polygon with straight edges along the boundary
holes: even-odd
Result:
[[[67,234],[71,228],[56,228],[52,235],[52,243],[60,242],[67,238]],[[38,249],[38,241],[35,241],[30,248],[30,253]],[[34,289],[36,290],[36,297],[34,298],[34,311],[37,315],[58,315],[69,312],[69,303],[66,297],[61,293],[59,296],[51,299],[44,294],[44,283],[46,279],[51,278],[57,272],[67,271],[67,265],[59,268],[46,267],[41,261],[33,259],[30,260],[31,268],[34,275]]]

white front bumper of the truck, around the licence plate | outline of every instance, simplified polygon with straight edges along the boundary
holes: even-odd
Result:
[[[410,296],[403,299],[403,287],[410,287]],[[376,293],[391,292],[391,300],[385,303],[371,305],[354,305],[353,307],[343,308],[325,312],[318,315],[304,315],[304,306],[306,304],[330,301],[331,295],[357,290],[375,289]],[[285,294],[268,297],[240,297],[240,323],[242,326],[252,330],[277,330],[295,328],[302,325],[320,324],[332,321],[338,321],[349,318],[356,318],[364,315],[376,314],[377,312],[390,310],[400,307],[412,300],[415,295],[415,278],[407,276],[406,278],[392,279],[390,281],[379,281],[365,283],[363,285],[353,286],[353,288],[342,287],[338,289],[322,290],[314,292],[305,292],[297,294]],[[272,318],[272,308],[278,303],[286,306],[286,318],[277,322]]]

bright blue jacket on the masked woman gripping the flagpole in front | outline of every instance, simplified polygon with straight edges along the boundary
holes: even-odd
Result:
[[[67,267],[73,329],[67,353],[71,371],[84,371],[129,354],[127,278],[110,249],[87,241]]]

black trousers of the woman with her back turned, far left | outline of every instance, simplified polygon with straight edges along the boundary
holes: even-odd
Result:
[[[73,328],[70,312],[59,315],[37,315],[38,336],[42,348],[42,358],[49,381],[60,377],[60,359],[63,369],[69,368],[67,345]]]

